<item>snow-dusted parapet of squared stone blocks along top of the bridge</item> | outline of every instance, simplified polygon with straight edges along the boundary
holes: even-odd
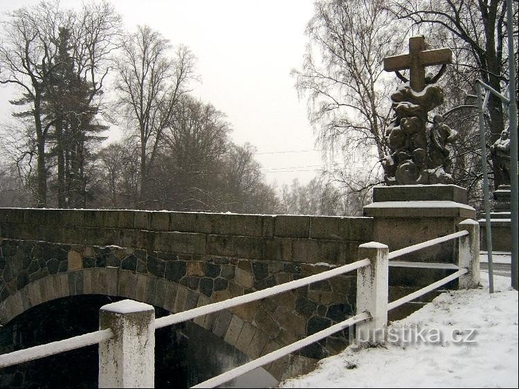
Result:
[[[370,217],[0,208],[0,238],[253,260],[346,264],[372,235]]]

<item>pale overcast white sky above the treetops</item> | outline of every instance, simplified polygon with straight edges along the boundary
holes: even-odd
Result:
[[[0,12],[37,2],[0,0]],[[70,8],[81,2],[61,3]],[[201,76],[201,83],[194,84],[194,95],[227,114],[235,143],[257,147],[256,159],[268,182],[277,180],[281,185],[299,178],[306,183],[316,175],[322,160],[319,152],[307,151],[315,147],[306,100],[298,100],[290,75],[302,64],[307,43],[304,28],[313,14],[313,0],[111,3],[128,30],[147,24],[172,44],[192,50]],[[10,111],[8,98],[6,88],[1,88],[2,120]]]

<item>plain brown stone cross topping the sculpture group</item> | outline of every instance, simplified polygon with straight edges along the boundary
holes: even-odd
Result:
[[[409,54],[394,55],[384,58],[385,71],[409,69],[410,87],[415,92],[421,92],[426,86],[426,66],[450,64],[453,52],[450,48],[425,50],[424,36],[409,38]]]

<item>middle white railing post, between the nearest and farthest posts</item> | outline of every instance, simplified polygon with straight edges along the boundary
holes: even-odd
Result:
[[[371,264],[357,269],[357,314],[368,311],[372,316],[371,321],[355,325],[358,343],[383,343],[386,340],[388,253],[388,246],[378,242],[358,246],[359,258],[368,258]]]

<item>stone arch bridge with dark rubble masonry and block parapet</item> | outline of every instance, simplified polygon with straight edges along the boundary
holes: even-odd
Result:
[[[371,217],[0,209],[0,324],[57,298],[101,294],[179,312],[358,260]],[[251,359],[354,314],[356,273],[194,323]],[[339,334],[277,361],[277,379],[347,345]]]

